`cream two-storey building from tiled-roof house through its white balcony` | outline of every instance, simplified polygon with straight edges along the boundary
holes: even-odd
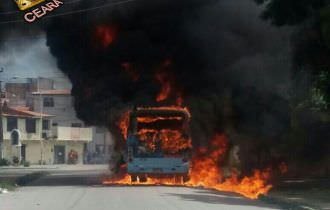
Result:
[[[3,157],[10,161],[17,157],[31,164],[63,164],[69,162],[70,151],[75,151],[76,163],[83,163],[84,145],[92,141],[92,129],[53,127],[53,118],[27,107],[4,105]]]

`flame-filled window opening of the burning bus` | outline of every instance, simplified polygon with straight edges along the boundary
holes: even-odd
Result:
[[[182,109],[140,108],[131,114],[131,134],[139,154],[180,155],[191,148],[189,112]],[[131,135],[131,136],[132,136]]]

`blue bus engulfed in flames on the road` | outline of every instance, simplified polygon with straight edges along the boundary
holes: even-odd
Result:
[[[127,172],[132,182],[189,177],[190,113],[179,107],[135,108],[129,115]]]

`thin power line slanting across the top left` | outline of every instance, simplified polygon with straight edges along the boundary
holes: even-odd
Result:
[[[49,19],[49,18],[54,18],[54,17],[79,14],[79,13],[89,12],[89,11],[98,10],[98,9],[102,9],[102,8],[106,8],[106,7],[126,4],[126,3],[134,2],[134,1],[137,1],[137,0],[123,0],[123,1],[118,1],[118,2],[111,2],[111,3],[108,3],[108,4],[103,4],[102,6],[96,6],[96,7],[91,7],[91,8],[87,8],[87,9],[80,9],[80,10],[73,10],[73,11],[70,11],[70,12],[63,12],[63,13],[54,14],[54,15],[48,15],[48,16],[44,17],[43,19]],[[0,22],[0,25],[10,24],[10,23],[21,23],[21,22],[25,22],[25,21],[23,19],[2,21],[2,22]]]

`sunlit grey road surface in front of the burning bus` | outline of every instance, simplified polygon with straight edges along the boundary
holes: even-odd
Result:
[[[0,195],[2,210],[278,209],[235,194],[184,187],[34,186]]]

